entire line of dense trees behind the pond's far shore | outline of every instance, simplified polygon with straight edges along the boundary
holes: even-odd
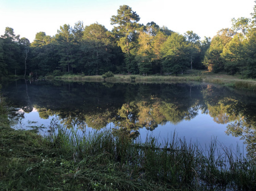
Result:
[[[255,1],[256,2],[256,1]],[[108,31],[98,23],[60,26],[55,36],[38,32],[30,43],[6,27],[0,37],[0,76],[178,74],[188,69],[256,78],[256,5],[251,18],[232,19],[232,27],[203,40],[155,22],[139,24],[127,5],[110,18]]]

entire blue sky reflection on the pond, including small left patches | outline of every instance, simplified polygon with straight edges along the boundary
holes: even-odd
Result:
[[[22,109],[19,109],[18,112],[22,112]],[[31,129],[29,126],[42,125],[44,128],[39,129],[39,134],[48,135],[49,126],[53,118],[57,118],[57,116],[49,116],[48,119],[40,118],[38,111],[33,108],[32,112],[24,113],[22,124],[17,124],[13,128],[28,130]],[[158,128],[155,128],[153,131],[142,128],[139,132],[141,141],[144,141],[147,135],[153,135],[162,142],[167,139],[171,141],[175,131],[177,138],[185,138],[187,142],[198,142],[203,148],[205,145],[209,146],[212,139],[217,138],[217,141],[224,144],[226,147],[233,146],[236,148],[236,146],[239,145],[241,152],[244,148],[244,152],[246,153],[245,146],[243,145],[243,141],[240,140],[240,137],[225,134],[227,125],[228,124],[217,124],[209,114],[201,114],[201,111],[199,111],[197,116],[190,121],[183,120],[176,125],[167,122],[165,125],[158,125]],[[113,123],[109,123],[106,128],[114,128]],[[86,129],[87,132],[93,131],[92,128],[87,127]]]

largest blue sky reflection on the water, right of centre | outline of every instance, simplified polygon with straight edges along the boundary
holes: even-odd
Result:
[[[146,128],[140,129],[139,132],[142,141],[146,139],[147,134],[159,137],[160,142],[167,138],[171,141],[175,131],[177,138],[185,138],[187,142],[198,142],[203,148],[205,145],[209,146],[212,139],[217,138],[219,143],[224,144],[228,148],[230,146],[236,148],[239,145],[241,152],[243,148],[245,150],[245,145],[243,145],[243,140],[240,140],[240,137],[226,135],[226,126],[228,124],[217,124],[209,114],[201,114],[201,111],[199,111],[199,114],[190,121],[181,121],[177,125],[167,122],[166,125],[158,125],[158,128],[152,132]]]

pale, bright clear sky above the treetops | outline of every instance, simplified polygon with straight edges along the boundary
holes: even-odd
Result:
[[[112,15],[128,5],[140,16],[139,23],[155,22],[184,34],[193,31],[204,39],[222,28],[232,27],[232,18],[251,18],[254,0],[0,0],[0,35],[5,28],[34,41],[38,32],[54,36],[64,24],[84,26],[98,22],[109,31]]]

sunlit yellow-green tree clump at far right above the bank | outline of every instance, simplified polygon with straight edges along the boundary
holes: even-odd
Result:
[[[215,73],[255,78],[255,12],[251,15],[252,19],[233,18],[232,29],[222,29],[213,37],[205,54],[205,66]]]

